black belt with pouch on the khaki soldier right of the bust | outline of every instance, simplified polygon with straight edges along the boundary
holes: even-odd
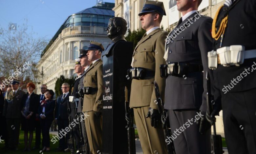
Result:
[[[143,80],[145,77],[154,77],[155,71],[149,70],[147,68],[143,67],[133,67],[131,69],[127,70],[127,79],[137,79],[137,80]]]

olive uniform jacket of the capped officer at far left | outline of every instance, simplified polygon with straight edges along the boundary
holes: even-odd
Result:
[[[7,99],[5,99],[3,115],[6,118],[20,118],[23,102],[27,99],[24,91],[18,90],[13,96],[13,91],[7,92]]]

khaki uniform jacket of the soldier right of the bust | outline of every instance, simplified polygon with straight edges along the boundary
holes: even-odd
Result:
[[[130,107],[150,106],[157,109],[156,95],[154,90],[154,80],[157,81],[160,88],[161,98],[164,98],[165,79],[160,77],[160,65],[164,64],[164,43],[167,31],[155,29],[148,35],[146,33],[138,42],[133,53],[133,66],[143,67],[155,71],[154,77],[146,77],[143,80],[132,80]]]

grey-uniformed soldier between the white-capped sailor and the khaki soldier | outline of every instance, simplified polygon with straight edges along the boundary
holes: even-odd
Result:
[[[80,55],[79,55],[80,64],[85,69],[84,69],[84,72],[82,73],[82,75],[79,79],[79,84],[78,84],[79,101],[78,101],[77,113],[80,115],[80,117],[82,116],[83,118],[86,118],[86,117],[84,117],[84,114],[82,112],[84,94],[81,93],[81,92],[82,92],[82,88],[84,87],[85,73],[87,72],[87,70],[88,70],[88,68],[90,67],[90,64],[91,64],[91,62],[88,61],[88,56],[86,55],[87,52],[88,51],[86,51],[84,49],[80,49]],[[86,154],[89,154],[89,144],[88,144],[88,138],[87,138],[87,134],[86,134],[84,121],[81,121],[81,128],[82,128],[82,135],[83,135],[83,140],[84,140],[84,148],[85,148]]]

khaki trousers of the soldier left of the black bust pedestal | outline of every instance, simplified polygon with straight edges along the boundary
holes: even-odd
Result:
[[[102,147],[102,115],[97,117],[94,111],[85,112],[85,128],[92,154],[99,154]]]

